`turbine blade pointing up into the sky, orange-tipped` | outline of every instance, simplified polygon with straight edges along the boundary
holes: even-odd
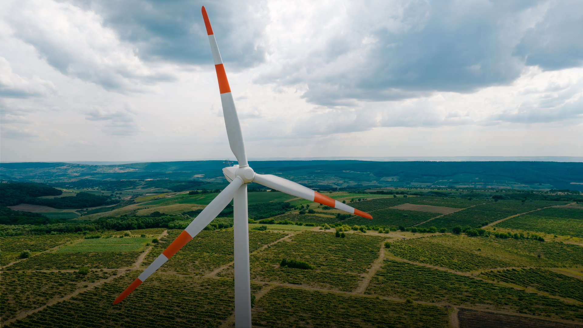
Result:
[[[227,128],[227,137],[229,137],[229,145],[231,151],[237,158],[239,166],[247,166],[247,154],[245,153],[245,142],[243,141],[243,133],[241,133],[241,124],[239,124],[239,117],[237,116],[237,109],[233,95],[231,94],[231,87],[227,74],[224,71],[223,59],[220,57],[219,46],[213,33],[213,28],[210,26],[209,16],[206,14],[206,9],[202,7],[202,18],[205,20],[206,33],[209,34],[210,51],[213,53],[213,60],[215,60],[215,69],[217,72],[217,79],[219,80],[220,100],[223,104],[224,125]]]

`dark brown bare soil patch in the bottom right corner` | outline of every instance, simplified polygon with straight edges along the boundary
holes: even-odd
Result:
[[[459,328],[581,328],[580,324],[459,308]]]

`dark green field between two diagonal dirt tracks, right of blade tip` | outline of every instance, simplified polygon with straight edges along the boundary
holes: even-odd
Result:
[[[463,211],[457,211],[444,215],[442,217],[426,222],[421,226],[422,228],[437,226],[437,228],[445,227],[449,229],[456,225],[469,225],[472,227],[482,226],[482,222],[484,221],[494,222],[510,217],[511,215],[537,210],[538,208],[563,204],[566,204],[566,202],[527,201],[522,203],[522,201],[519,200],[504,200],[497,202],[490,201],[485,204],[476,205],[475,207],[466,208]]]

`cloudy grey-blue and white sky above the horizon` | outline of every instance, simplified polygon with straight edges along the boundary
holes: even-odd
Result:
[[[1,160],[583,156],[580,1],[0,2]]]

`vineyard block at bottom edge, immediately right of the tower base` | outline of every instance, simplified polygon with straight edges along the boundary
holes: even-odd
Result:
[[[257,327],[448,327],[448,309],[332,292],[274,287],[252,310]]]

